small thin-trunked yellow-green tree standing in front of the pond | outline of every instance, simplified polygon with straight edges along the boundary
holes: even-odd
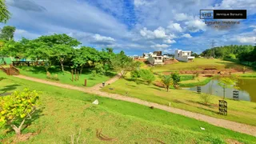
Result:
[[[233,78],[220,78],[218,86],[221,86],[223,89],[223,99],[225,99],[226,88],[231,88],[236,85],[237,80]]]

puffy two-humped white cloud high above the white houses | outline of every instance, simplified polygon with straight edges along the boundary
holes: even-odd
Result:
[[[140,30],[140,34],[142,35],[142,37],[148,38],[148,39],[167,37],[165,29],[162,28],[161,26],[154,31],[147,30],[146,27],[144,27],[142,30]]]

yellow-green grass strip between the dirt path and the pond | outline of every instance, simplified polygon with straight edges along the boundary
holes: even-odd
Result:
[[[127,85],[126,85],[127,84]],[[114,88],[110,90],[109,88]],[[158,86],[147,86],[144,84],[137,85],[135,82],[120,79],[110,86],[103,88],[104,91],[122,94],[134,98],[140,98],[150,102],[156,102],[162,105],[169,105],[197,112],[200,114],[210,115],[215,118],[228,119],[234,122],[242,122],[256,126],[256,103],[246,101],[233,101],[226,99],[228,102],[228,115],[222,116],[218,114],[218,100],[221,99],[213,96],[214,99],[211,106],[204,106],[201,103],[199,94],[190,90],[170,90],[166,92]]]

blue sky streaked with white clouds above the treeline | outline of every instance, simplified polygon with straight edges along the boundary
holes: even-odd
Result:
[[[84,46],[141,55],[176,49],[201,53],[216,46],[254,44],[254,0],[6,0],[15,40],[68,34]],[[247,19],[226,30],[206,26],[199,10],[244,9]],[[237,20],[238,21],[238,20]],[[0,25],[1,27],[3,24]]]

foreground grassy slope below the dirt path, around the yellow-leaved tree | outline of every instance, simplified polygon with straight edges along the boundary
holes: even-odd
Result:
[[[6,77],[2,72],[0,77],[6,78],[0,81],[0,93],[24,87],[42,91],[42,112],[38,113],[39,117],[34,117],[32,125],[22,131],[23,134],[38,130],[40,133],[23,143],[66,143],[70,135],[78,133],[80,128],[80,138],[86,143],[110,143],[100,141],[96,137],[96,129],[102,129],[102,134],[110,138],[118,138],[118,143],[149,143],[146,138],[158,138],[166,143],[222,143],[230,138],[245,143],[256,142],[255,137],[178,114]],[[91,104],[96,98],[100,102],[98,106]],[[12,135],[4,134],[0,129],[0,139],[10,140]]]

